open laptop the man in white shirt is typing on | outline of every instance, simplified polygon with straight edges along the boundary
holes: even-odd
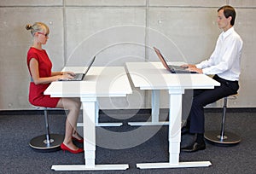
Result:
[[[154,48],[154,51],[155,51],[156,55],[158,56],[158,58],[162,62],[163,66],[166,67],[166,69],[168,71],[170,71],[171,73],[195,73],[195,72],[190,72],[189,70],[187,70],[187,67],[168,65],[166,63],[166,60],[165,60],[164,56],[160,53],[160,50],[155,48],[155,47],[153,47],[153,48]]]

